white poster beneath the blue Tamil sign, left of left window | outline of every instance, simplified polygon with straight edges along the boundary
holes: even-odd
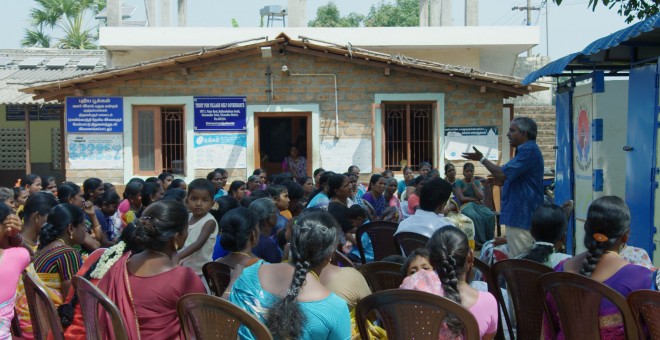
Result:
[[[123,139],[120,134],[68,134],[70,169],[122,169]]]

